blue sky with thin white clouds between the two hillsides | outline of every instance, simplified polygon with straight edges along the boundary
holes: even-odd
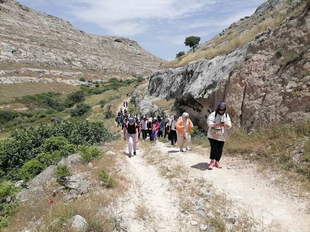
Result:
[[[87,33],[137,41],[152,54],[171,60],[187,36],[201,43],[233,22],[252,15],[265,0],[18,0],[57,16]]]

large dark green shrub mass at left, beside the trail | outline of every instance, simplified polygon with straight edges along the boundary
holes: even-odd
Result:
[[[0,179],[19,180],[19,170],[24,163],[45,152],[43,147],[45,140],[56,136],[64,136],[69,142],[60,150],[61,156],[75,153],[77,145],[92,145],[119,139],[108,132],[101,121],[64,122],[38,128],[31,127],[26,131],[15,130],[11,134],[11,140],[0,140],[0,170],[2,170]]]

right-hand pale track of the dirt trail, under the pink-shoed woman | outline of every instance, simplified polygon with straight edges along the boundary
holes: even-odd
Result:
[[[306,213],[307,202],[288,196],[274,186],[271,181],[260,176],[254,168],[228,169],[231,165],[222,158],[222,169],[209,170],[209,155],[202,156],[193,152],[179,152],[178,148],[157,143],[165,153],[175,153],[191,167],[189,178],[203,177],[214,183],[215,188],[224,191],[229,198],[240,205],[250,206],[254,217],[273,231],[310,231],[310,216]],[[206,151],[208,154],[209,151]],[[242,161],[241,161],[242,162]]]

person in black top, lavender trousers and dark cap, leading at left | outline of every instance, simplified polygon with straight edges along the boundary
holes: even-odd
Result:
[[[126,135],[127,131],[127,135]],[[137,143],[138,143],[138,136],[139,136],[139,126],[135,123],[135,119],[130,117],[128,118],[128,122],[124,128],[124,141],[128,140],[128,152],[129,158],[131,158],[131,152],[134,150],[134,156],[137,155]]]

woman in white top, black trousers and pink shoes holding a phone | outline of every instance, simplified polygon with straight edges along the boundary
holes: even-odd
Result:
[[[232,127],[229,115],[225,113],[226,104],[224,102],[219,103],[217,110],[211,113],[208,117],[207,123],[208,129],[208,140],[210,141],[210,165],[209,168],[213,167],[222,168],[219,163],[221,159],[225,140],[227,138],[227,130]],[[214,163],[215,161],[215,163]]]

